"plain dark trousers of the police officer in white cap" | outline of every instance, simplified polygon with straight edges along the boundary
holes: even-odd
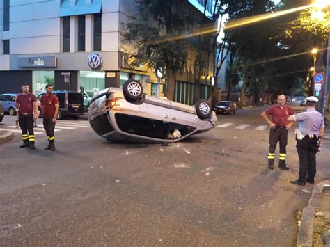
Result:
[[[314,182],[316,175],[317,138],[298,140],[296,145],[299,155],[299,181]]]

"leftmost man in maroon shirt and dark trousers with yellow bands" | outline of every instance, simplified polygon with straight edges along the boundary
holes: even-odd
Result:
[[[29,84],[22,85],[22,93],[16,97],[16,107],[23,138],[23,145],[20,145],[19,148],[30,147],[34,150],[36,147],[34,145],[33,118],[37,115],[38,106],[36,96],[29,93]]]

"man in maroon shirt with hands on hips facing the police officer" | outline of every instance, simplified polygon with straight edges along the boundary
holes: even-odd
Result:
[[[286,145],[288,145],[288,130],[292,127],[293,122],[289,122],[287,118],[289,115],[293,115],[294,111],[290,106],[285,105],[285,102],[285,96],[279,95],[277,104],[261,113],[262,118],[267,121],[270,127],[268,168],[271,170],[274,169],[275,149],[278,141],[280,143],[278,168],[280,170],[289,170],[285,164]],[[272,120],[269,120],[269,115],[272,115]]]

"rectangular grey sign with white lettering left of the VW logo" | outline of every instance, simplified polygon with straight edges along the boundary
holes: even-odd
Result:
[[[18,67],[56,67],[56,56],[19,56]]]

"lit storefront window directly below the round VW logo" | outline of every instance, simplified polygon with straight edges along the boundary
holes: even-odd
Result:
[[[79,74],[80,86],[90,97],[105,88],[105,72],[81,70]]]

